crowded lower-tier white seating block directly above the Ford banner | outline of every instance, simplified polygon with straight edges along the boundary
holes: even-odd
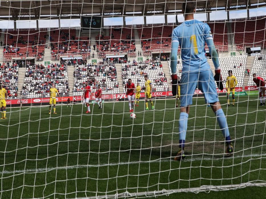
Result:
[[[23,98],[49,97],[49,89],[53,83],[60,96],[69,95],[67,67],[58,64],[28,66],[22,96]]]

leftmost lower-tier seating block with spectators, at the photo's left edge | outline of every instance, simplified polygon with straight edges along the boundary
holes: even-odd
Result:
[[[3,88],[7,90],[8,98],[16,99],[18,91],[18,65],[3,64],[0,65],[0,82]]]

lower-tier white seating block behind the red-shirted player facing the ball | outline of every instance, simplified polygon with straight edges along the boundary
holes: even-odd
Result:
[[[137,86],[145,86],[144,75],[149,75],[149,80],[153,84],[153,91],[166,91],[168,90],[167,78],[163,72],[163,66],[159,61],[149,61],[149,62],[127,62],[122,63],[122,79],[123,87],[127,83],[127,80],[131,78],[132,82]],[[144,89],[142,89],[144,91]],[[125,92],[125,88],[124,88]]]

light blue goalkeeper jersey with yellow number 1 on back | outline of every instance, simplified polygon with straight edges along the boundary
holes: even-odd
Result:
[[[181,48],[182,74],[210,69],[205,56],[205,41],[213,39],[210,26],[198,20],[186,20],[172,33],[172,43],[179,42]]]

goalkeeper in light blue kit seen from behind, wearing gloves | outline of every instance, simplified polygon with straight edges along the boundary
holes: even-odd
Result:
[[[219,67],[219,59],[214,47],[213,37],[208,24],[194,20],[196,12],[195,3],[187,1],[182,4],[182,12],[185,21],[174,28],[172,32],[172,49],[171,49],[171,72],[172,72],[172,93],[176,96],[177,91],[177,51],[181,47],[182,58],[182,77],[180,89],[180,117],[179,117],[179,150],[174,160],[184,159],[184,147],[186,140],[186,130],[188,124],[189,105],[192,104],[192,96],[198,87],[204,94],[206,103],[210,103],[214,111],[222,134],[226,142],[226,155],[233,153],[233,146],[228,130],[226,117],[221,108],[214,77],[205,56],[205,42],[209,47],[212,61],[215,66],[215,74],[222,80]],[[220,84],[219,84],[220,85]]]

